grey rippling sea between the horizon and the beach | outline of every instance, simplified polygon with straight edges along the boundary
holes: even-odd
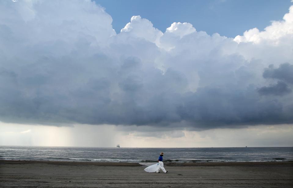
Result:
[[[156,162],[293,161],[293,147],[104,148],[0,146],[2,160]]]

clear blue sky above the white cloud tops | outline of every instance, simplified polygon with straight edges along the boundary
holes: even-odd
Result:
[[[290,0],[95,1],[112,16],[116,33],[131,16],[140,15],[163,32],[173,22],[189,22],[197,31],[233,38],[254,27],[263,30],[271,20],[281,20],[293,4]]]

